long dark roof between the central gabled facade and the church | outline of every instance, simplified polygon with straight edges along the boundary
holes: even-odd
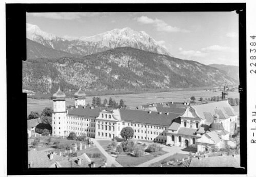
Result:
[[[177,118],[180,114],[170,113],[159,114],[157,112],[145,112],[144,110],[128,110],[120,109],[121,119],[124,121],[132,121],[138,123],[147,123],[155,125],[170,125],[171,121]]]

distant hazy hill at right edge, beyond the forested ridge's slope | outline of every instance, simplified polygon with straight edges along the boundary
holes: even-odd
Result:
[[[239,80],[239,67],[234,65],[225,64],[209,64],[210,67],[218,68],[225,71],[230,77],[235,80]]]

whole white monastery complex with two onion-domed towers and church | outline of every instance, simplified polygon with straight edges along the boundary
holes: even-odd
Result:
[[[66,109],[66,96],[60,90],[53,95],[52,135],[67,137],[70,132],[96,139],[121,138],[121,130],[130,126],[133,139],[150,140],[204,151],[237,133],[238,116],[228,101],[189,106],[184,113],[151,110],[86,107],[86,94],[74,94],[75,107]]]

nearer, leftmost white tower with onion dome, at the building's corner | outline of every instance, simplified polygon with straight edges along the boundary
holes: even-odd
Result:
[[[66,95],[58,86],[58,91],[53,94],[53,112],[52,112],[52,135],[53,136],[67,136],[66,135]]]

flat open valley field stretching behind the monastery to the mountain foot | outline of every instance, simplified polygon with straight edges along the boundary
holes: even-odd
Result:
[[[125,101],[125,104],[128,106],[137,106],[139,104],[147,104],[152,102],[183,102],[189,101],[190,97],[194,96],[196,101],[202,97],[211,98],[213,96],[221,96],[221,91],[219,92],[211,92],[206,90],[198,90],[198,91],[174,91],[174,92],[160,92],[160,93],[141,93],[141,94],[125,94],[125,95],[104,95],[99,96],[103,101],[105,98],[109,100],[109,97],[114,99],[116,102],[119,102],[120,99]],[[238,92],[229,92],[229,98],[240,98]],[[86,102],[92,102],[93,97],[86,97]],[[66,105],[73,105],[74,99],[67,98]],[[37,100],[37,99],[27,99],[28,105],[28,115],[31,111],[33,112],[41,112],[45,107],[53,107],[52,100]]]

